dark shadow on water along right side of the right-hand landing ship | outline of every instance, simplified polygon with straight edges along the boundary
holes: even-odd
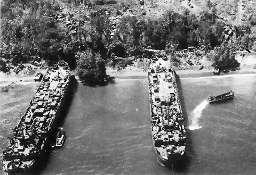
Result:
[[[184,96],[183,96],[183,91],[182,91],[182,86],[181,86],[181,81],[179,76],[176,76],[176,82],[177,82],[177,87],[178,87],[178,91],[179,91],[179,98],[180,98],[180,103],[181,103],[181,109],[182,109],[182,113],[183,113],[183,118],[185,120],[185,126],[188,125],[188,115],[187,115],[187,111],[185,108],[185,101],[184,101]],[[191,130],[189,130],[188,128],[186,129],[186,134],[187,134],[187,141],[186,141],[186,151],[185,151],[185,155],[182,157],[181,160],[173,163],[173,171],[174,172],[186,172],[190,162],[191,162],[191,157],[192,155],[194,155],[194,150],[193,150],[193,143],[192,143],[192,139],[191,139]],[[169,169],[172,169],[172,166],[168,167]]]

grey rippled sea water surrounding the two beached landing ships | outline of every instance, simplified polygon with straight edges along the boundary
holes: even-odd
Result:
[[[1,157],[11,128],[38,86],[21,81],[9,93],[0,93]],[[182,167],[167,168],[157,161],[147,77],[116,77],[107,86],[78,82],[62,121],[65,144],[52,150],[37,174],[255,174],[256,74],[182,74],[178,87],[188,137]],[[234,99],[206,102],[210,94],[230,89]]]

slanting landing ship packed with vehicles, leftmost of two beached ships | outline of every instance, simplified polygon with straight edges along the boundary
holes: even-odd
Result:
[[[69,66],[64,61],[47,71],[36,96],[13,129],[10,145],[3,151],[5,172],[22,172],[36,167],[50,146],[51,135],[69,93],[70,78]]]

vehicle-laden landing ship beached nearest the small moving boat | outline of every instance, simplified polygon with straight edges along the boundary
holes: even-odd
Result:
[[[170,61],[158,59],[149,66],[149,96],[152,139],[155,151],[165,165],[185,154],[186,131]]]

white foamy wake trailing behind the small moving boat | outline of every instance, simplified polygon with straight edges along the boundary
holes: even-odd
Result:
[[[201,129],[202,127],[199,126],[198,118],[201,118],[202,112],[205,109],[205,107],[209,104],[206,100],[203,101],[201,104],[197,105],[196,108],[190,113],[190,124],[188,129],[195,130],[195,129]]]

